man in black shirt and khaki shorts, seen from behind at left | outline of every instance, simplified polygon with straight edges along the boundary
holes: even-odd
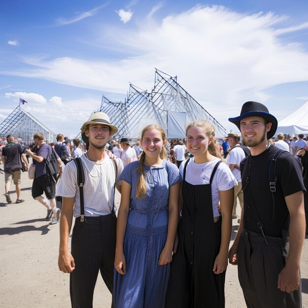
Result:
[[[2,149],[1,160],[4,164],[5,172],[5,197],[7,203],[12,203],[9,195],[10,186],[12,180],[16,187],[17,200],[16,203],[24,202],[25,200],[20,197],[20,178],[21,178],[21,159],[26,164],[26,171],[29,170],[29,164],[26,155],[23,153],[24,148],[16,143],[15,138],[12,135],[6,137],[8,144]]]

